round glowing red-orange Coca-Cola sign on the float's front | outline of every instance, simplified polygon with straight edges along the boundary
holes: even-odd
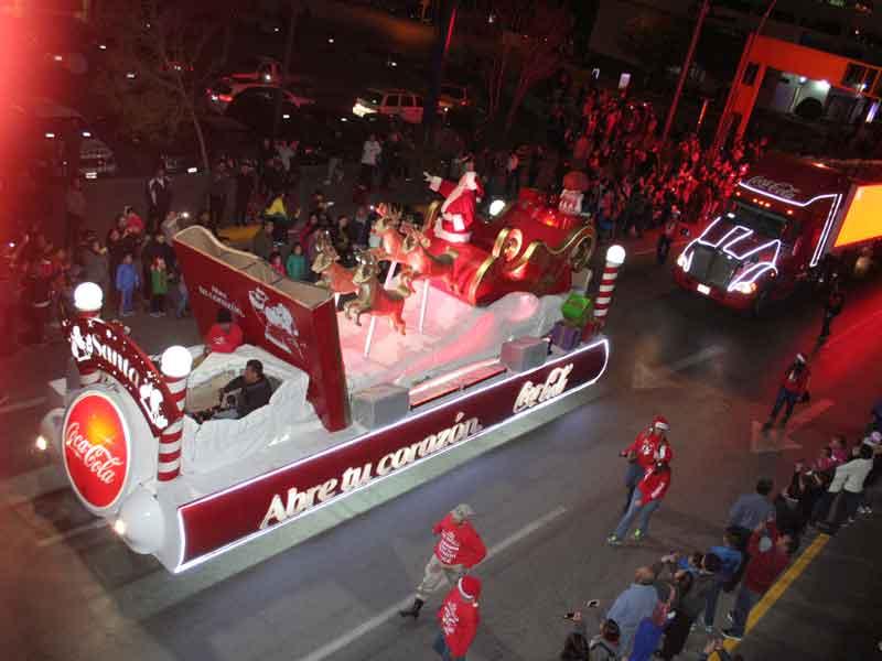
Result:
[[[129,435],[121,412],[106,395],[84,394],[68,410],[64,466],[76,492],[95,509],[114,505],[122,492]]]

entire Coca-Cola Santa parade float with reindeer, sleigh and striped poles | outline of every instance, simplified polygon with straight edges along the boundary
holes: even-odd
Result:
[[[179,232],[203,335],[220,308],[244,330],[232,354],[147,356],[100,318],[100,289],[82,284],[64,324],[79,381],[52,384],[58,405],[41,431],[83,505],[181,572],[596,382],[624,251],[607,251],[592,307],[567,299],[594,234],[563,201],[526,193],[492,221],[469,218],[465,240],[451,206],[435,203],[412,227],[386,205],[379,246],[352,269],[322,238],[318,285],[201,227]],[[269,404],[197,422],[191,413],[251,358],[272,384]]]

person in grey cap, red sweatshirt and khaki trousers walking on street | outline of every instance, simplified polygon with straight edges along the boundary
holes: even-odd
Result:
[[[398,611],[401,617],[417,619],[429,595],[444,583],[455,585],[467,570],[484,560],[487,550],[469,521],[474,514],[470,506],[458,505],[432,528],[432,533],[439,535],[434,553],[426,564],[426,573],[422,583],[417,587],[413,604],[410,608]]]

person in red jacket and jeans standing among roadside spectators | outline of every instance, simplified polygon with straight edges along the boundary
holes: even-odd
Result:
[[[781,534],[773,520],[760,523],[751,535],[747,546],[750,562],[744,581],[735,597],[735,608],[730,613],[732,626],[723,631],[730,640],[741,640],[751,609],[777,581],[790,561],[792,540]]]

